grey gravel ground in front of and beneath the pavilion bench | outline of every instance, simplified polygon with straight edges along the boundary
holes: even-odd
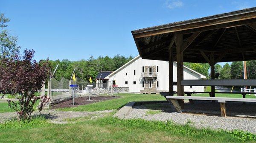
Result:
[[[196,105],[192,105],[196,106]],[[168,108],[167,108],[168,107]],[[186,107],[186,105],[185,105]],[[198,107],[200,108],[200,107]],[[203,108],[203,106],[201,106]],[[147,114],[149,110],[160,110],[160,113],[150,115]],[[185,111],[188,109],[185,108]],[[203,109],[202,109],[203,111]],[[212,113],[210,110],[208,113]],[[214,113],[214,112],[213,112]],[[235,114],[235,113],[233,113]],[[254,114],[256,114],[256,110],[254,110]],[[251,115],[254,115],[253,113]],[[172,104],[158,104],[157,105],[142,105],[142,106],[134,106],[133,109],[130,110],[128,115],[125,117],[126,119],[131,118],[140,118],[150,121],[168,121],[171,120],[178,124],[186,124],[189,123],[196,128],[212,128],[212,129],[241,129],[244,131],[256,133],[256,118],[241,118],[241,117],[220,117],[218,115],[202,115],[202,114],[192,114],[192,113],[177,113]]]

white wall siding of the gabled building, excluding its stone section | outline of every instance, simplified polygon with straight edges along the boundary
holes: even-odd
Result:
[[[141,57],[133,61],[115,71],[112,75],[106,77],[109,78],[109,81],[116,80],[116,85],[118,87],[129,87],[130,92],[140,93],[140,90],[144,90],[142,87],[142,67],[145,66],[158,66],[159,72],[157,73],[157,81],[159,81],[159,88],[157,90],[160,91],[168,91],[169,90],[169,63],[166,61],[157,61],[157,60],[148,60],[142,59]],[[136,75],[134,76],[134,70],[136,70]],[[156,71],[153,71],[156,72]],[[127,73],[127,76],[125,76]],[[174,73],[174,81],[177,81],[177,64],[174,62],[173,64],[173,73]],[[192,70],[184,67],[184,79],[201,79],[201,75],[195,73]],[[128,84],[125,84],[125,81],[128,81]],[[136,81],[136,84],[133,84],[133,81]],[[174,90],[177,91],[177,86],[174,86]],[[204,91],[203,86],[184,86],[184,91]]]

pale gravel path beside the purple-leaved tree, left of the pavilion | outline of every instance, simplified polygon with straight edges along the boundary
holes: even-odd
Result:
[[[96,112],[72,112],[72,111],[57,111],[57,110],[43,110],[40,113],[35,112],[35,115],[43,115],[51,123],[67,123],[66,119],[79,118],[93,116],[92,118],[100,118],[108,115],[113,110],[104,110]],[[0,113],[0,123],[16,118],[17,114],[15,112]]]

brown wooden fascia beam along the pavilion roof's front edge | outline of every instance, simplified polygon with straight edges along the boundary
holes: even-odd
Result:
[[[255,12],[234,15],[233,17],[223,17],[222,19],[204,20],[201,22],[183,22],[176,25],[158,26],[145,28],[144,30],[132,31],[134,38],[152,36],[177,32],[177,34],[189,34],[199,31],[226,28],[230,26],[246,25],[256,22]]]

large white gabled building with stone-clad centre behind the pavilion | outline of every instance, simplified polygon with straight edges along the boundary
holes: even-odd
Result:
[[[169,63],[142,59],[140,55],[105,77],[118,87],[129,87],[131,93],[152,94],[169,91]],[[177,81],[177,64],[173,64],[174,81]],[[184,79],[206,79],[206,76],[184,66]],[[174,86],[177,91],[177,86]],[[203,92],[204,86],[184,86],[184,91]]]

